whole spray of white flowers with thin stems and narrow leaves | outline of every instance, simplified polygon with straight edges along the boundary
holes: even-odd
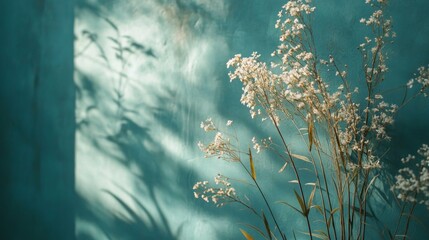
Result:
[[[366,0],[365,2],[371,5],[374,11],[360,21],[368,28],[368,32],[371,32],[371,36],[366,36],[358,47],[363,62],[363,74],[359,77],[363,78],[361,80],[366,84],[362,93],[365,94],[364,96],[359,96],[359,89],[353,86],[355,81],[352,80],[356,79],[350,79],[353,76],[348,74],[347,65],[338,65],[338,61],[333,56],[324,60],[317,55],[311,16],[309,16],[315,10],[309,4],[311,0],[288,0],[278,13],[275,27],[280,31],[280,42],[271,54],[275,59],[272,60],[273,62],[264,63],[260,60],[261,56],[253,52],[249,57],[236,54],[226,64],[227,68],[233,69],[229,73],[230,81],[237,79],[242,84],[240,102],[249,109],[251,117],[260,117],[262,121],[271,120],[274,125],[272,127],[282,140],[283,144],[277,145],[273,144],[271,137],[266,139],[253,137],[252,144],[256,152],[271,149],[281,155],[282,151],[279,150],[284,147],[286,153],[290,155],[290,161],[287,162],[292,162],[297,179],[301,169],[295,167],[295,158],[311,162],[314,165],[314,173],[319,176],[318,167],[324,168],[321,162],[317,165],[314,158],[309,161],[306,156],[291,154],[289,151],[287,143],[289,139],[284,136],[289,134],[289,126],[293,125],[303,137],[303,141],[305,143],[308,141],[308,153],[311,157],[316,156],[315,153],[317,153],[322,159],[321,154],[326,154],[332,160],[332,174],[336,176],[332,178],[332,183],[344,183],[343,186],[348,184],[349,187],[353,185],[347,189],[348,196],[354,196],[356,199],[353,199],[353,202],[357,200],[359,207],[366,206],[366,201],[369,199],[367,194],[372,182],[365,183],[368,183],[367,180],[373,176],[375,179],[378,169],[383,166],[381,153],[385,145],[380,142],[391,139],[388,129],[394,124],[394,116],[400,108],[396,104],[386,102],[380,94],[382,90],[380,84],[385,81],[386,72],[389,70],[386,64],[388,59],[386,45],[395,37],[392,21],[384,15],[387,1]],[[418,94],[427,96],[429,66],[419,68],[418,74],[407,86],[411,88],[413,84],[421,87]],[[363,99],[364,97],[366,98]],[[407,102],[405,100],[401,107]],[[280,125],[281,121],[285,120],[289,120],[290,125],[283,125],[283,122]],[[228,121],[226,125],[228,127],[231,124],[232,121]],[[240,151],[234,145],[238,143],[237,137],[232,137],[231,141],[228,137],[230,135],[220,131],[211,119],[202,122],[201,128],[206,132],[213,131],[215,134],[214,140],[208,145],[198,143],[206,157],[215,156],[230,161],[241,161]],[[326,142],[321,136],[327,137]],[[425,204],[429,209],[429,146],[423,145],[418,150],[418,154],[422,159],[417,163],[413,155],[402,159],[402,163],[406,166],[400,169],[395,177],[396,183],[392,186],[392,191],[396,191],[397,197],[402,201]],[[256,181],[250,149],[249,155],[252,173],[247,172]],[[287,162],[279,173],[285,169]],[[241,165],[246,168],[244,164]],[[323,178],[328,184],[329,179],[325,176],[324,170]],[[355,182],[355,179],[359,181]],[[206,202],[211,201],[217,206],[227,202],[238,202],[256,213],[251,206],[240,201],[228,178],[218,175],[215,183],[222,187],[209,187],[207,181],[196,183],[195,197],[202,198]],[[298,184],[301,188],[301,183],[298,182]],[[346,192],[337,191],[336,193],[338,199],[346,199]],[[304,198],[302,189],[301,194]],[[330,195],[326,197],[329,198]],[[325,198],[325,195],[321,194],[321,198]],[[356,211],[345,201],[338,201],[338,204],[348,207],[349,213]],[[346,210],[340,211],[343,211],[340,214],[342,217],[347,215],[344,214]],[[308,216],[306,217],[308,220]],[[329,223],[326,223],[329,233]],[[360,221],[357,224],[361,224],[359,226],[361,229],[364,222]],[[345,233],[347,227],[341,226],[342,233]],[[350,229],[352,228],[349,225]],[[311,231],[310,224],[309,231]]]

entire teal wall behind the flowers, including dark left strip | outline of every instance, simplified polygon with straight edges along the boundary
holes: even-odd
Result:
[[[196,181],[217,173],[244,178],[234,163],[204,159],[207,117],[234,126],[246,149],[271,134],[239,103],[226,61],[277,45],[277,0],[33,0],[0,2],[2,239],[240,239],[240,223],[261,223],[241,208],[194,199]],[[316,1],[321,55],[351,67],[365,28],[363,1]],[[429,2],[392,1],[398,37],[383,88],[406,83],[429,63]],[[388,98],[398,100],[400,92]],[[427,99],[401,112],[386,161],[429,143]],[[290,141],[293,142],[294,136]],[[299,149],[297,143],[293,147]],[[293,200],[275,161],[256,163],[269,199]],[[274,184],[272,184],[274,183]],[[380,183],[382,186],[382,184]],[[242,192],[254,194],[250,188]],[[255,206],[262,206],[256,198]],[[286,225],[304,221],[276,206]],[[386,224],[397,214],[375,204]],[[428,220],[412,228],[423,239]],[[288,231],[292,231],[288,228]],[[379,239],[372,233],[368,239]],[[302,237],[302,236],[301,236]],[[298,238],[300,239],[300,238]]]

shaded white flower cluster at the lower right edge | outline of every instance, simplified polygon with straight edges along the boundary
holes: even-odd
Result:
[[[414,155],[401,159],[407,166],[399,169],[392,191],[397,191],[402,201],[425,204],[429,209],[429,146],[423,144],[417,153],[417,162]]]

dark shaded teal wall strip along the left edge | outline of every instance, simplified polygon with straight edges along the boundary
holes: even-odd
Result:
[[[0,2],[1,239],[74,239],[73,6]]]

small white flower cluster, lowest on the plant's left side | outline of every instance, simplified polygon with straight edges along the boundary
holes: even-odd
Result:
[[[235,189],[228,182],[228,178],[218,174],[215,184],[220,187],[210,187],[208,181],[197,182],[194,187],[195,198],[201,198],[206,202],[213,202],[217,207],[222,207],[226,203],[238,201]]]

